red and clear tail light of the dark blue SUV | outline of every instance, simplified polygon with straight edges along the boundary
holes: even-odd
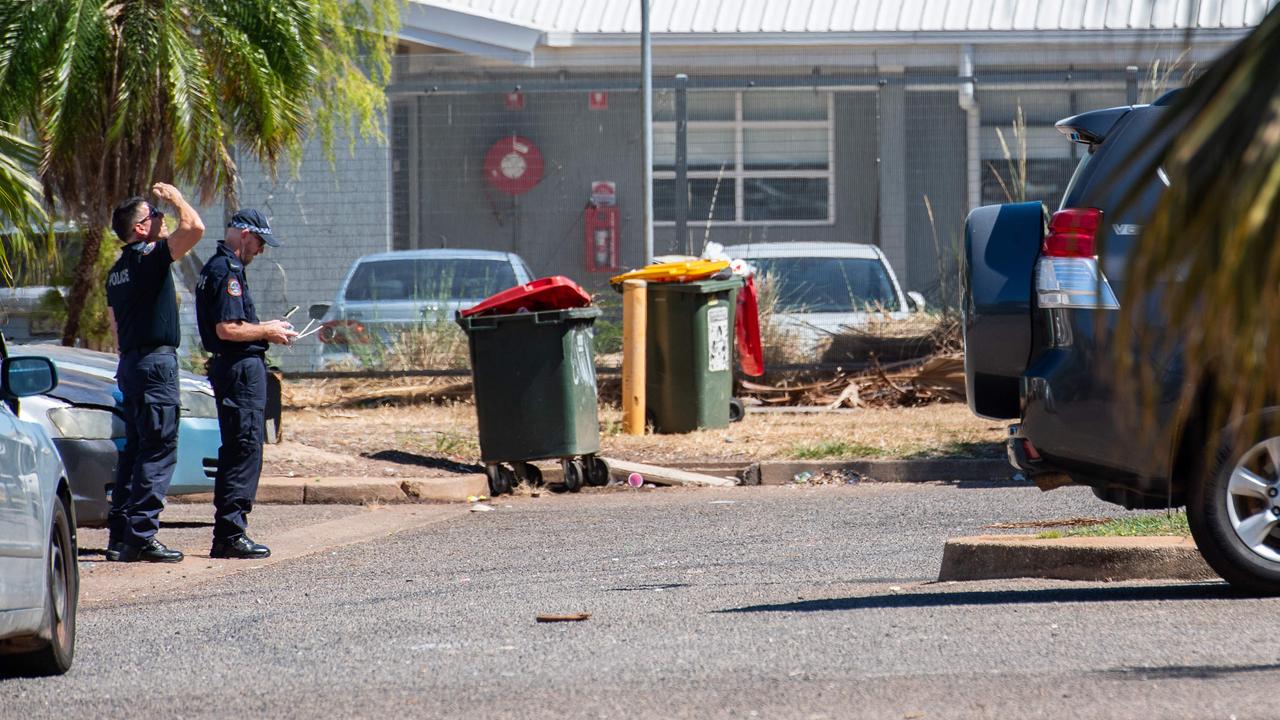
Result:
[[[1102,210],[1069,208],[1053,213],[1036,269],[1036,299],[1041,307],[1119,310],[1111,283],[1096,255]]]

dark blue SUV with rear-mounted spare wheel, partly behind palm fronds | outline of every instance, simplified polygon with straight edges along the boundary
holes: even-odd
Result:
[[[1212,383],[1185,387],[1176,338],[1158,310],[1161,288],[1130,313],[1155,341],[1119,336],[1126,258],[1169,186],[1151,169],[1147,140],[1170,132],[1162,117],[1172,95],[1060,120],[1082,159],[1052,215],[1039,202],[970,213],[969,406],[1015,421],[1010,461],[1042,487],[1087,484],[1129,509],[1187,505],[1192,534],[1219,574],[1252,592],[1280,592],[1280,423],[1272,421],[1280,411],[1267,413],[1247,442],[1211,447],[1228,428],[1210,427]],[[1146,383],[1117,366],[1117,342],[1129,345]]]

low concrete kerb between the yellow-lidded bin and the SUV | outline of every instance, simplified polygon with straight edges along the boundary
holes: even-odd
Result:
[[[749,486],[788,486],[804,473],[855,473],[861,482],[924,483],[924,482],[1004,482],[1014,469],[1004,457],[936,460],[796,460],[756,462],[742,473]]]

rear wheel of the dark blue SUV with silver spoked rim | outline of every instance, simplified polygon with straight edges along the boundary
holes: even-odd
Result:
[[[1201,555],[1234,587],[1280,594],[1280,411],[1253,442],[1224,443],[1187,506]]]

